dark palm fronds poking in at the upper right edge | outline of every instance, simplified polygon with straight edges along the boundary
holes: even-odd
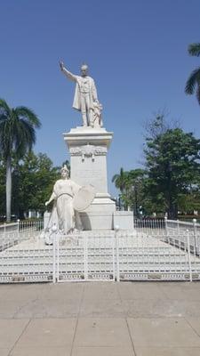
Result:
[[[189,44],[188,53],[192,56],[200,56],[200,43],[198,44]],[[188,77],[188,81],[186,83],[185,92],[187,94],[194,94],[196,91],[196,98],[200,105],[200,67],[194,69],[190,76]]]

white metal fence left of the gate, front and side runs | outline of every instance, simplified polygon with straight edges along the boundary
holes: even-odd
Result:
[[[42,221],[0,226],[0,282],[51,281],[52,247],[38,239]]]

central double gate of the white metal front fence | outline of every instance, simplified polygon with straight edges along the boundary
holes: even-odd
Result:
[[[115,233],[84,231],[54,239],[57,281],[115,280]]]

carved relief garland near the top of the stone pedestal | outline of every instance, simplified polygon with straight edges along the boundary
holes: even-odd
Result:
[[[70,147],[69,152],[71,156],[81,156],[83,161],[85,157],[92,157],[92,160],[94,160],[94,156],[106,156],[107,148],[87,143],[86,145],[79,147]]]

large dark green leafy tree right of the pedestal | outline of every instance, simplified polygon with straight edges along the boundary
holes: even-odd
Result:
[[[148,168],[148,196],[164,206],[170,218],[178,214],[179,198],[191,191],[200,171],[200,140],[180,128],[167,129],[148,138],[145,150]]]

